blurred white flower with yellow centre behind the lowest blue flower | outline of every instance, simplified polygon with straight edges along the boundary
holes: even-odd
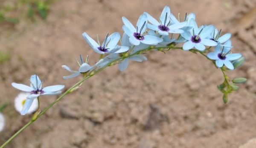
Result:
[[[26,102],[26,97],[28,97],[30,95],[29,92],[20,92],[20,94],[17,95],[17,97],[15,98],[15,109],[20,113],[23,109],[23,106]],[[30,106],[27,114],[31,114],[33,112],[35,112],[38,109],[38,100],[34,99],[34,101],[32,102],[32,105]]]

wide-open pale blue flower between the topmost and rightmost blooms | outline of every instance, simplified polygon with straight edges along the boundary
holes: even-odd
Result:
[[[214,26],[204,26],[198,28],[194,19],[189,21],[189,26],[192,27],[189,31],[184,31],[180,34],[184,37],[187,42],[183,44],[183,50],[189,50],[195,47],[200,51],[205,50],[205,46],[217,46],[218,43],[214,40],[207,39],[207,37],[212,33]]]

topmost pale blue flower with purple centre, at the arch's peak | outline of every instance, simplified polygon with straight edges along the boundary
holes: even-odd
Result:
[[[187,22],[171,24],[171,11],[168,6],[165,6],[162,14],[160,15],[160,22],[158,22],[154,17],[152,17],[147,12],[144,12],[147,15],[148,21],[152,24],[147,24],[149,29],[158,31],[160,35],[168,35],[169,33],[183,33],[184,31],[180,28],[186,26]]]

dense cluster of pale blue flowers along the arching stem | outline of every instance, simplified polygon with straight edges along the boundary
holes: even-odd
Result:
[[[65,76],[64,79],[86,74],[117,58],[120,58],[118,61],[119,70],[124,71],[128,67],[129,60],[138,62],[147,60],[143,54],[134,53],[150,46],[168,48],[171,44],[183,43],[183,50],[193,49],[204,53],[209,51],[210,47],[215,46],[214,52],[209,52],[207,57],[215,61],[217,67],[221,68],[225,65],[230,70],[234,69],[232,63],[242,56],[241,54],[232,54],[230,51],[232,48],[230,33],[221,36],[221,30],[218,31],[213,25],[198,27],[194,13],[186,14],[182,21],[180,16],[177,19],[171,13],[169,6],[165,6],[159,21],[147,12],[140,15],[136,26],[133,26],[126,17],[122,17],[122,21],[124,23],[122,39],[119,32],[114,32],[111,35],[107,34],[103,43],[100,44],[99,39],[96,42],[84,32],[82,34],[84,39],[95,52],[102,54],[101,59],[94,66],[90,66],[87,62],[83,63],[81,59],[79,71],[73,71],[67,65],[62,65],[64,69],[73,73]],[[173,37],[173,34],[177,34],[177,37]],[[118,45],[119,41],[121,41],[121,45]],[[107,55],[103,57],[103,54]],[[133,55],[129,56],[131,54]]]

